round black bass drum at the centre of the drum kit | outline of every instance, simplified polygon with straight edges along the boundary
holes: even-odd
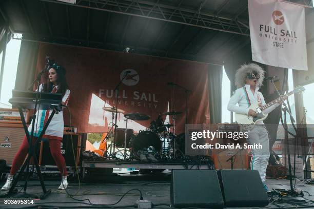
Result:
[[[131,143],[130,149],[134,154],[139,150],[147,151],[147,148],[153,147],[156,152],[161,152],[162,143],[159,136],[151,131],[142,131],[136,135]]]

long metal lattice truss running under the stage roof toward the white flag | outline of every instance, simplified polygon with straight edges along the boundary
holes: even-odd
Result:
[[[229,0],[223,2],[219,11],[215,13],[202,11],[202,7],[206,4],[207,0],[199,5],[198,8],[194,9],[182,8],[181,3],[183,0],[178,6],[161,4],[159,3],[159,0],[150,2],[142,0],[77,0],[75,5],[58,2],[56,0],[41,1],[139,16],[149,19],[162,20],[165,22],[249,36],[248,24],[239,19],[239,16],[247,10],[247,5],[244,8],[241,8],[241,10],[238,11],[237,15],[234,17],[225,17],[219,14],[226,5],[226,2]]]

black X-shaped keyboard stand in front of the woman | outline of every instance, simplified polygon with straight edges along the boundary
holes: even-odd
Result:
[[[21,115],[21,120],[22,120],[22,123],[23,123],[23,128],[25,130],[25,134],[26,134],[26,137],[27,137],[27,140],[28,140],[28,144],[29,144],[29,151],[28,151],[28,157],[26,159],[26,161],[24,162],[21,170],[19,171],[18,175],[16,176],[16,178],[13,180],[13,183],[12,183],[12,186],[11,186],[11,189],[9,190],[8,193],[4,194],[3,196],[0,196],[0,198],[6,198],[6,197],[10,197],[12,195],[15,195],[17,193],[17,189],[15,189],[15,186],[17,184],[17,182],[19,181],[19,179],[22,177],[22,174],[24,173],[24,170],[27,166],[27,171],[26,171],[26,181],[25,181],[25,184],[24,184],[24,195],[23,196],[27,196],[28,198],[38,198],[38,196],[34,196],[34,195],[31,195],[31,194],[27,194],[26,193],[26,190],[27,190],[27,180],[28,180],[28,177],[29,177],[29,161],[31,159],[31,157],[33,157],[33,161],[34,161],[34,164],[35,164],[35,168],[36,168],[36,171],[37,171],[37,176],[41,182],[41,186],[42,186],[42,190],[43,190],[43,195],[40,196],[40,199],[45,199],[50,193],[51,193],[51,190],[47,190],[46,189],[46,186],[45,186],[45,183],[44,183],[44,179],[43,179],[43,176],[42,176],[42,173],[41,173],[41,169],[40,169],[40,166],[38,165],[38,161],[37,161],[37,156],[36,154],[34,154],[34,145],[32,143],[32,136],[29,135],[29,132],[28,132],[28,129],[27,129],[27,126],[26,126],[26,121],[25,121],[25,117],[23,115],[23,111],[22,111],[22,108],[21,107],[18,107],[18,111],[19,111],[19,114]],[[53,111],[51,113],[51,115],[49,116],[40,136],[38,136],[36,142],[34,143],[35,145],[37,145],[41,140],[42,140],[42,137],[52,119],[52,117],[54,116],[55,113],[58,113],[58,110],[56,110],[56,108],[53,108]],[[34,124],[34,118],[33,118],[33,124]],[[33,132],[32,132],[33,133]]]

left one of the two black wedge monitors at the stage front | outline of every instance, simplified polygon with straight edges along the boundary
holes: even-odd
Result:
[[[174,207],[224,206],[215,170],[172,170],[170,199]]]

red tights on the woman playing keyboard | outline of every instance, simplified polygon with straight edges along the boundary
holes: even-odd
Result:
[[[37,137],[33,137],[33,143],[36,141]],[[61,141],[57,139],[49,139],[49,147],[50,147],[50,153],[58,167],[58,170],[62,174],[62,176],[67,176],[67,168],[65,164],[65,159],[63,155],[61,154],[60,149]],[[24,136],[23,142],[21,147],[19,147],[14,160],[12,162],[12,168],[10,171],[11,175],[15,175],[18,171],[18,169],[23,164],[26,155],[28,154],[28,141],[26,136]],[[45,155],[45,153],[44,153]]]

